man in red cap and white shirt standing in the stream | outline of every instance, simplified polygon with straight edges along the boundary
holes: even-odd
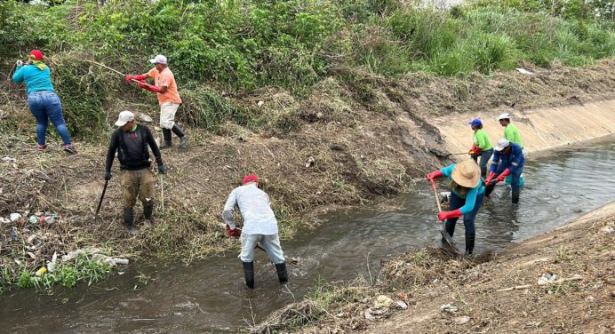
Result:
[[[280,282],[288,282],[284,252],[277,235],[276,215],[271,210],[269,196],[258,186],[259,179],[256,175],[248,174],[244,178],[244,185],[236,187],[228,195],[222,212],[222,219],[227,223],[227,235],[235,238],[240,236],[234,219],[236,206],[244,219],[244,228],[241,230],[242,251],[239,258],[244,265],[245,285],[250,289],[254,289],[254,249],[259,243],[267,251],[271,262],[276,265]]]

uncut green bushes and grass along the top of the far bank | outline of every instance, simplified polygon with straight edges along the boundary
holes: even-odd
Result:
[[[612,4],[601,0],[475,0],[449,11],[395,0],[48,3],[0,3],[0,70],[8,73],[32,48],[44,50],[68,123],[82,138],[107,131],[103,110],[118,92],[149,99],[84,60],[143,73],[163,53],[188,100],[185,122],[290,131],[297,115],[254,115],[217,91],[276,85],[301,97],[327,76],[344,82],[332,69],[339,65],[381,76],[487,75],[522,60],[581,66],[615,55]]]

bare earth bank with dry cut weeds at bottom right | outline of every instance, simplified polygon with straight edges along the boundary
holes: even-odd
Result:
[[[411,252],[388,262],[376,282],[316,288],[252,332],[610,333],[614,227],[611,203],[501,254]]]

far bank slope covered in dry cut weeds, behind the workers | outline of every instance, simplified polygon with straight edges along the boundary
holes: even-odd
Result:
[[[179,112],[190,146],[183,152],[163,151],[169,172],[164,182],[156,183],[155,227],[143,229],[138,217],[141,232],[132,238],[121,224],[117,161],[100,217],[94,218],[104,184],[108,135],[77,140],[79,154],[74,156],[63,155],[58,139],[48,135],[49,148],[37,152],[34,117],[25,94],[1,83],[0,157],[7,159],[0,162],[0,217],[21,215],[0,224],[3,286],[15,286],[22,273],[34,277],[53,253],[61,256],[79,249],[95,247],[113,257],[179,258],[187,263],[236,251],[238,243],[224,234],[220,213],[229,192],[248,172],[259,175],[271,196],[282,237],[291,238],[297,227],[310,225],[301,219],[303,213],[395,195],[411,187],[413,178],[422,179],[427,171],[449,163],[439,131],[428,122],[431,115],[488,111],[502,101],[536,107],[539,101],[553,105],[571,99],[574,103],[608,99],[613,91],[607,83],[615,80],[612,64],[613,60],[603,60],[579,69],[531,68],[537,73],[531,77],[517,72],[496,73],[493,78],[413,74],[395,80],[338,68],[337,78],[323,79],[303,99],[277,87],[225,97],[213,90],[190,91]],[[96,70],[87,76],[96,76]],[[125,83],[116,79],[103,84],[116,92],[100,102],[106,110],[100,119],[111,124],[124,109],[158,118],[151,96],[125,95],[121,92]],[[84,82],[88,80],[93,78]],[[531,89],[523,90],[524,86]],[[212,114],[219,108],[247,118],[231,122]],[[66,110],[68,115],[72,112]],[[77,123],[83,118],[67,117]],[[68,123],[69,129],[72,126]],[[159,131],[156,136],[161,137]],[[54,213],[55,222],[29,223],[29,216],[37,212]]]

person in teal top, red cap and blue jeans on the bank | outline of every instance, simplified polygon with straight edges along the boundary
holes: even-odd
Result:
[[[62,104],[58,94],[53,89],[50,70],[44,63],[43,53],[32,50],[25,66],[21,60],[17,60],[17,68],[12,76],[12,81],[14,83],[26,83],[28,107],[36,118],[38,150],[43,151],[47,147],[45,135],[49,120],[51,120],[62,141],[64,141],[64,152],[75,155],[76,150],[70,142],[68,128],[64,122]]]

